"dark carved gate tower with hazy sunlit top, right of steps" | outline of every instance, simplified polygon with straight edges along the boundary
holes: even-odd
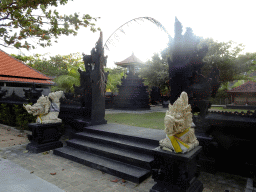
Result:
[[[187,28],[183,35],[181,22],[175,18],[175,35],[173,39],[172,59],[168,59],[169,85],[171,87],[170,103],[173,104],[182,91],[188,94],[192,112],[199,112],[198,117],[204,118],[210,107],[210,97],[215,97],[219,89],[219,70],[211,69],[208,77],[202,75],[202,67],[205,65],[203,58],[208,52],[205,44],[198,49],[200,38]],[[204,129],[204,125],[198,125]]]

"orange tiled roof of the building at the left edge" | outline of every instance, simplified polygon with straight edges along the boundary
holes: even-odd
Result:
[[[0,81],[53,85],[52,78],[0,49]]]

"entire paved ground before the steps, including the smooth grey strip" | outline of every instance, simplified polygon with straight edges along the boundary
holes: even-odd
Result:
[[[161,110],[166,111],[166,109]],[[141,184],[124,181],[55,156],[52,151],[39,154],[30,153],[26,150],[26,145],[29,142],[26,139],[26,133],[23,133],[24,137],[21,137],[20,133],[4,125],[0,125],[0,131],[0,192],[17,191],[15,190],[17,187],[19,187],[18,191],[21,191],[20,187],[22,186],[22,191],[26,192],[35,191],[31,190],[32,188],[43,191],[43,188],[40,190],[40,186],[44,186],[44,189],[47,188],[47,191],[148,192],[155,183],[151,177]],[[3,145],[4,141],[2,142],[2,140],[7,138],[13,140],[10,140],[12,143],[6,147],[6,143]],[[64,145],[66,139],[65,137],[61,138]],[[242,192],[246,186],[246,179],[238,175],[220,172],[215,175],[201,172],[199,177],[199,180],[204,184],[204,192],[224,192],[225,190]],[[30,189],[24,187],[28,184],[31,185]]]

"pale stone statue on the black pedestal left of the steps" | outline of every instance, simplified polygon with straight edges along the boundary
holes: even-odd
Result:
[[[34,105],[23,105],[28,113],[37,115],[36,123],[61,123],[58,118],[60,112],[60,98],[64,97],[63,91],[49,93],[48,96],[42,95]]]

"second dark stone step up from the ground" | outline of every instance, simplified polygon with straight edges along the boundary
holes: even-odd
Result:
[[[150,164],[154,161],[153,155],[143,154],[134,150],[123,149],[117,146],[102,144],[90,140],[72,139],[67,141],[67,146],[121,161],[127,164],[150,170]]]

